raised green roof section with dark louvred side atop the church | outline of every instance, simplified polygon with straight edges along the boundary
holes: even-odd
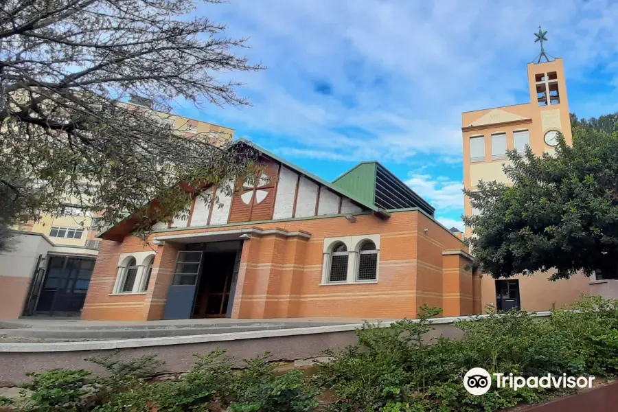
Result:
[[[386,211],[419,207],[433,216],[435,208],[378,161],[364,161],[333,182],[367,203]]]

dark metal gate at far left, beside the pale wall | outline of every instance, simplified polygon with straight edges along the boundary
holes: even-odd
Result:
[[[94,265],[94,259],[50,256],[45,279],[39,286],[40,292],[32,294],[36,304],[32,305],[35,309],[30,314],[45,317],[80,316]]]

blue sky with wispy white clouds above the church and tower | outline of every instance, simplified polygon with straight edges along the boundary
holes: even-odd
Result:
[[[230,0],[197,13],[250,37],[245,108],[179,108],[324,179],[378,160],[462,227],[461,112],[528,102],[533,32],[564,58],[570,111],[618,111],[611,1]]]

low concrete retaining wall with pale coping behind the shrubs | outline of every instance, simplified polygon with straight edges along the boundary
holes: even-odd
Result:
[[[383,325],[389,325],[384,323]],[[464,332],[453,326],[453,319],[436,319],[435,330],[426,339],[444,336],[457,339]],[[60,343],[0,343],[0,387],[14,386],[29,371],[53,368],[86,369],[96,374],[103,370],[84,358],[118,351],[127,361],[144,355],[156,355],[165,362],[161,373],[187,371],[194,365],[193,354],[205,354],[217,348],[227,350],[236,366],[243,360],[271,353],[272,361],[298,361],[323,356],[326,349],[358,343],[355,330],[361,324],[330,325],[312,328],[260,330],[227,334],[174,336],[152,339]]]

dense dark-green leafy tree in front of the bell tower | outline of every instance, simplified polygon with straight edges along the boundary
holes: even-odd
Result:
[[[470,244],[475,262],[492,277],[531,275],[552,268],[551,279],[577,271],[618,278],[618,133],[575,126],[555,155],[509,152],[504,172],[513,182],[479,182],[466,190],[477,216]]]

